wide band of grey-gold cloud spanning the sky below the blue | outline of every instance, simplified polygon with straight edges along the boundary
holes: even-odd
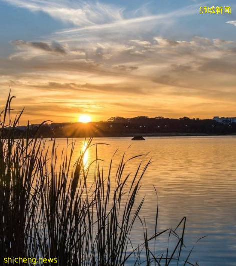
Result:
[[[203,74],[203,71],[220,71],[223,74],[233,74],[236,66],[234,41],[197,36],[189,41],[162,36],[148,40],[121,40],[120,43],[105,39],[87,46],[79,42],[67,44],[66,49],[59,43],[18,40],[14,44],[21,50],[11,55],[10,61],[1,59],[3,74],[50,71],[61,72],[62,76],[68,72],[74,76],[87,73],[100,79],[148,79],[155,80],[156,83],[157,80],[166,83],[166,76],[170,76],[172,83],[173,80],[184,80],[176,82],[177,86],[187,86],[187,83],[192,86],[189,79],[190,76],[192,80],[195,79],[193,73],[198,75]],[[31,50],[24,50],[25,48]],[[47,53],[35,53],[35,50]],[[56,54],[64,56],[55,56]],[[180,74],[182,78],[176,79]]]

